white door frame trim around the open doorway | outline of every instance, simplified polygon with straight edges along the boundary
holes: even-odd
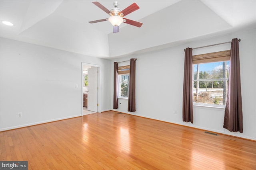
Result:
[[[81,63],[81,116],[84,116],[84,107],[83,107],[83,100],[84,100],[84,96],[83,96],[83,88],[84,88],[84,73],[83,73],[83,66],[87,65],[87,66],[94,66],[94,67],[98,67],[98,113],[101,112],[101,104],[100,104],[100,65],[96,65],[96,64],[90,64],[90,63]]]

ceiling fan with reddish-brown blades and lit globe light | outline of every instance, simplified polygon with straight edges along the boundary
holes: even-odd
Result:
[[[113,27],[113,33],[117,33],[119,32],[119,25],[124,22],[130,25],[134,25],[136,27],[141,27],[142,23],[137,22],[137,21],[133,21],[133,20],[129,20],[127,18],[122,18],[136,10],[138,10],[140,7],[136,4],[133,3],[130,6],[128,6],[127,8],[125,8],[124,10],[120,10],[118,8],[118,2],[115,1],[113,3],[114,8],[108,10],[107,8],[105,8],[102,4],[100,4],[100,2],[92,2],[93,4],[95,4],[96,6],[98,6],[100,9],[102,9],[104,12],[106,12],[108,15],[110,15],[109,18],[106,19],[102,19],[102,20],[95,20],[95,21],[90,21],[89,23],[97,23],[97,22],[102,22],[102,21],[110,21],[110,23],[112,23]]]

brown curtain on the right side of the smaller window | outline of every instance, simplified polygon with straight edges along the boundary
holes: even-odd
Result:
[[[136,59],[130,59],[130,80],[129,80],[129,96],[128,96],[128,111],[136,111],[135,106],[135,67]]]

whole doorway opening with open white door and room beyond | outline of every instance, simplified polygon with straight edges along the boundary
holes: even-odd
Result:
[[[100,66],[82,63],[82,115],[98,112],[98,78]]]

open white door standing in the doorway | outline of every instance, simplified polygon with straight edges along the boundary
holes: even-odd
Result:
[[[88,68],[88,100],[87,109],[98,112],[98,67]]]

